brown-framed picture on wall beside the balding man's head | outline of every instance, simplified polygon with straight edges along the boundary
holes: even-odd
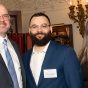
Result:
[[[21,11],[9,11],[11,27],[9,32],[21,33],[22,32],[22,19]]]

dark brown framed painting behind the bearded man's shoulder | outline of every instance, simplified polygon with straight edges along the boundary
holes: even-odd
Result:
[[[52,40],[73,47],[72,24],[53,24]]]

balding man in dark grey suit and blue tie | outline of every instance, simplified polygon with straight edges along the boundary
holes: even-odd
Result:
[[[10,15],[0,4],[0,88],[26,88],[25,71],[17,44],[8,38]]]

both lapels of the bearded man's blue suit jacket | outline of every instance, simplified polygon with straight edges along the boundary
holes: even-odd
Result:
[[[54,48],[52,47],[52,45],[53,45],[53,43],[50,43],[49,48],[46,51],[44,62],[43,62],[42,68],[41,68],[41,73],[40,73],[38,86],[39,86],[40,82],[42,81],[42,79],[44,78],[43,69],[47,69],[48,63],[49,63],[51,55],[53,53],[52,51],[53,51]],[[31,54],[32,54],[32,50],[30,51]],[[30,68],[30,60],[31,60],[31,54],[30,53],[28,53],[28,56],[27,56],[28,58],[26,59],[27,79],[28,79],[28,84],[31,84],[32,88],[37,88],[36,83],[35,83],[35,79],[33,77],[33,74],[32,74],[31,68]]]

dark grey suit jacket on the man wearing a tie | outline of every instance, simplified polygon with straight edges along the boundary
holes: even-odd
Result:
[[[24,67],[23,67],[23,63],[22,63],[22,59],[21,59],[21,56],[20,56],[18,46],[14,41],[12,41],[12,40],[10,40],[10,41],[11,41],[11,43],[12,43],[12,45],[13,45],[13,47],[14,47],[17,55],[18,55],[20,65],[21,65],[23,88],[26,88],[25,70],[24,70]],[[10,74],[7,70],[7,67],[5,65],[5,62],[4,62],[1,54],[0,54],[0,88],[14,88],[12,79],[10,77]]]

